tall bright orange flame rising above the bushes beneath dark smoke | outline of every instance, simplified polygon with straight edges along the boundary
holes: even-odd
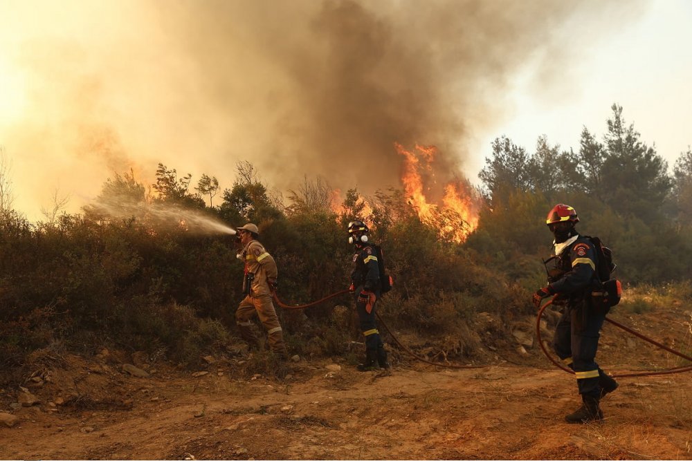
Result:
[[[399,143],[394,143],[394,147],[404,158],[401,176],[404,191],[421,221],[439,229],[441,238],[457,243],[466,241],[468,234],[478,225],[477,200],[468,182],[447,182],[441,203],[431,203],[426,196],[431,187],[425,187],[426,180],[422,173],[426,173],[426,178],[432,185],[437,184],[433,168],[437,147],[416,144],[415,151],[409,151]]]

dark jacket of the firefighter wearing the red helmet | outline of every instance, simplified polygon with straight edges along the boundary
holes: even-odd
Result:
[[[596,249],[590,239],[580,235],[567,242],[556,254],[549,286],[552,292],[566,299],[583,299],[596,280]]]

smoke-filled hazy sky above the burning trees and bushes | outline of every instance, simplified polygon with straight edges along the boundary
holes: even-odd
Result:
[[[435,182],[477,184],[493,139],[578,149],[617,103],[672,165],[691,20],[684,0],[0,0],[3,164],[30,220],[158,162],[372,194],[401,187],[394,144],[421,144]]]

